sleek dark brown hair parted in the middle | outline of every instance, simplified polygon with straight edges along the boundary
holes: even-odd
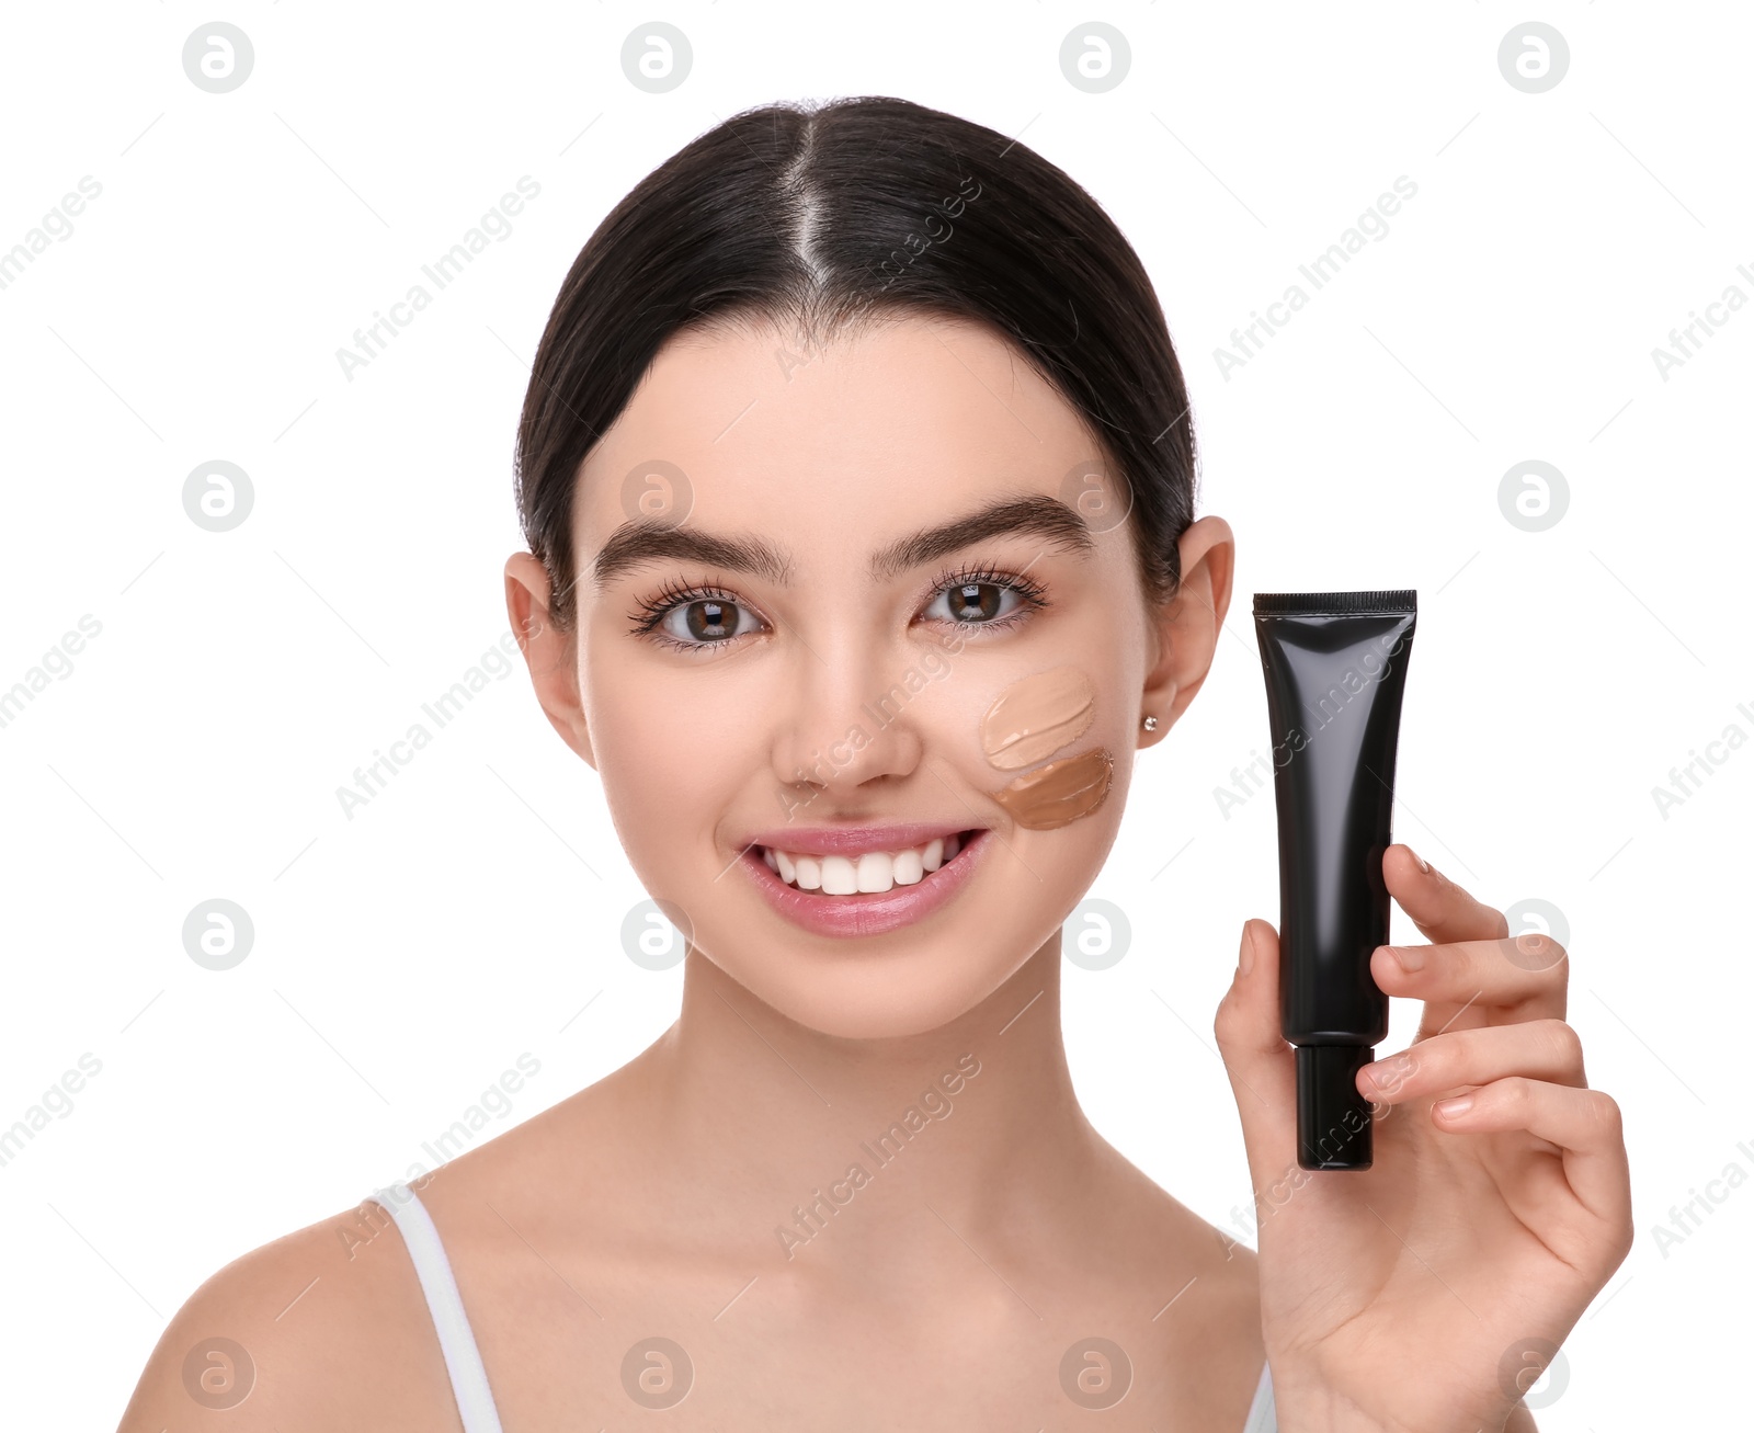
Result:
[[[1126,484],[1145,595],[1173,596],[1194,438],[1138,254],[1024,144],[877,95],[731,116],[645,175],[579,251],[517,426],[517,505],[556,624],[575,619],[579,465],[670,337],[765,317],[826,339],[909,312],[988,324],[1082,414]]]

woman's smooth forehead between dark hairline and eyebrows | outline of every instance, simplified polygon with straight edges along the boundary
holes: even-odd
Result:
[[[582,570],[674,502],[686,523],[784,537],[800,560],[844,556],[1000,493],[1058,496],[1093,456],[1077,410],[984,324],[909,316],[814,344],[714,326],[658,353],[584,463],[575,553]]]

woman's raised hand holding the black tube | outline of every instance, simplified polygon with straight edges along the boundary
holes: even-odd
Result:
[[[1621,1110],[1584,1080],[1558,942],[1507,938],[1503,912],[1405,845],[1382,875],[1433,944],[1370,958],[1382,991],[1424,1002],[1414,1044],[1358,1077],[1377,1101],[1372,1168],[1298,1166],[1266,921],[1245,923],[1214,1024],[1254,1180],[1279,1424],[1533,1428],[1521,1394],[1631,1249]]]

